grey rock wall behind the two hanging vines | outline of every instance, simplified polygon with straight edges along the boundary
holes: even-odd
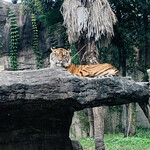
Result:
[[[10,65],[10,19],[8,17],[10,7],[17,20],[19,28],[19,47],[18,47],[18,69],[36,69],[36,55],[33,51],[33,31],[31,16],[23,14],[23,6],[20,4],[13,5],[12,3],[0,1],[0,65],[5,67],[5,70],[11,70]],[[41,22],[37,21],[38,27],[38,47],[43,54],[43,67],[47,67],[49,61],[50,38],[47,29]]]

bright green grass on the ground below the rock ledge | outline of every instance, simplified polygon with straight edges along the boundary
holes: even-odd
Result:
[[[95,150],[94,139],[78,138],[84,150]],[[106,134],[106,150],[150,150],[150,129],[139,128],[133,137],[124,138],[123,134]]]

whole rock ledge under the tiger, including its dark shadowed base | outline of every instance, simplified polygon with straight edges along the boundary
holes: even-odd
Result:
[[[0,72],[0,150],[77,150],[69,138],[74,111],[138,102],[148,114],[148,98],[148,85],[131,78],[79,78],[60,68]]]

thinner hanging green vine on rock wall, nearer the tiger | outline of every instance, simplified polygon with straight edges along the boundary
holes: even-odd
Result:
[[[32,30],[33,30],[33,50],[36,54],[36,60],[37,60],[37,69],[42,68],[42,53],[39,51],[38,48],[38,28],[36,25],[36,18],[35,15],[32,14]]]

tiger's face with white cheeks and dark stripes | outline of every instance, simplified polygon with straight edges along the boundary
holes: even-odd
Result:
[[[51,49],[50,67],[69,67],[71,64],[70,50],[63,48]]]

